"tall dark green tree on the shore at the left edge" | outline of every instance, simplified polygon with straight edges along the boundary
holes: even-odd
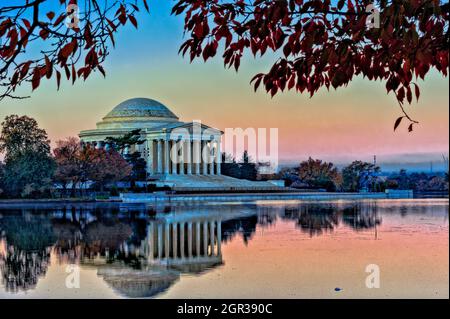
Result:
[[[18,115],[7,116],[1,126],[5,193],[13,197],[28,197],[50,189],[56,166],[45,130],[38,127],[36,120]]]

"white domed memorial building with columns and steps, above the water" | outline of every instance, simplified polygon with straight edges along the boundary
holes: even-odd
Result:
[[[140,130],[145,142],[127,148],[145,159],[149,180],[174,189],[274,188],[267,182],[251,182],[221,174],[219,129],[200,122],[180,121],[169,108],[148,98],[133,98],[114,107],[97,123],[81,131],[80,140],[97,148],[108,148],[107,137],[121,137]],[[157,183],[158,184],[158,183]]]

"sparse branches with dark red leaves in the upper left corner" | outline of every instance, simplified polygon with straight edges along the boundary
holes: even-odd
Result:
[[[45,5],[58,2],[58,13],[44,11]],[[102,63],[109,45],[115,45],[114,34],[127,23],[137,28],[136,11],[148,10],[146,0],[11,3],[0,6],[0,100],[20,98],[14,91],[26,82],[35,90],[44,78],[56,78],[59,88],[63,76],[72,83],[86,80],[92,71],[104,76]]]

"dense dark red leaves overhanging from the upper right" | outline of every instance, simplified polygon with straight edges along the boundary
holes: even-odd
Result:
[[[374,3],[379,28],[366,25]],[[179,0],[188,39],[180,52],[191,61],[221,53],[239,69],[245,51],[276,61],[252,79],[272,96],[294,89],[313,96],[320,88],[346,86],[355,75],[381,80],[403,108],[420,91],[415,78],[431,68],[448,71],[448,1],[439,0]],[[370,19],[369,19],[370,20]]]

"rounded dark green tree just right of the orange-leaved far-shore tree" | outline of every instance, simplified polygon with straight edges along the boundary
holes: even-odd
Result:
[[[372,163],[354,161],[342,170],[343,189],[348,192],[358,192],[364,187],[375,189],[379,171]]]

